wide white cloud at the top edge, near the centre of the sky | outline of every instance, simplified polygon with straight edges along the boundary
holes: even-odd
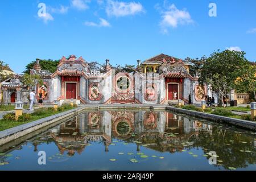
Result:
[[[127,16],[135,15],[143,12],[143,6],[141,3],[136,2],[119,2],[108,0],[106,7],[106,13],[108,16]]]

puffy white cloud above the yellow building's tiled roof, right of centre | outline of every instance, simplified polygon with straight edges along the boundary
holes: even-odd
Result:
[[[193,23],[191,15],[186,9],[179,10],[174,4],[169,5],[167,1],[164,1],[164,6],[161,8],[158,4],[155,9],[160,11],[161,22],[160,27],[164,34],[168,33],[168,28],[177,28],[179,24]]]

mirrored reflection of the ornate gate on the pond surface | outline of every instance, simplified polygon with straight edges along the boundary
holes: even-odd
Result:
[[[61,154],[81,153],[90,142],[102,142],[109,151],[112,138],[159,151],[181,151],[189,138],[212,126],[174,113],[157,111],[94,111],[81,114],[51,131]]]

